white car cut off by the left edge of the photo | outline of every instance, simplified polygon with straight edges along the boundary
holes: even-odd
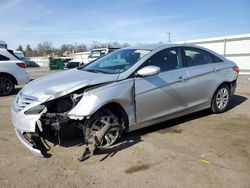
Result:
[[[25,63],[12,50],[0,48],[0,96],[9,95],[15,85],[23,85],[30,80]]]

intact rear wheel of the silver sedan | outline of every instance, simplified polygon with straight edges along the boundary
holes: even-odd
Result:
[[[220,86],[214,93],[212,99],[211,110],[213,113],[225,112],[228,108],[230,100],[230,90],[229,87],[224,84]]]

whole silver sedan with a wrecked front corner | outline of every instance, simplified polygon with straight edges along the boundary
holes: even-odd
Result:
[[[59,137],[73,127],[93,153],[111,146],[123,131],[208,108],[226,111],[238,72],[235,63],[193,45],[123,48],[30,82],[13,102],[12,122],[35,154],[46,155],[41,146],[46,134]]]

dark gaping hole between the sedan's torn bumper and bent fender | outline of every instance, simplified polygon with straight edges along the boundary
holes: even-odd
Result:
[[[26,113],[39,113],[40,118],[36,122],[39,135],[44,138],[47,136],[57,136],[60,143],[60,137],[70,137],[71,133],[72,135],[82,134],[82,130],[78,129],[82,128],[82,124],[76,123],[68,117],[68,112],[78,104],[82,96],[83,90],[77,90],[37,105],[29,109]]]

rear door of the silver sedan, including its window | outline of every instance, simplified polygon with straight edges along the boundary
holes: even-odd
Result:
[[[183,47],[183,65],[188,72],[188,106],[199,108],[210,105],[216,87],[215,66],[210,53],[193,47]]]

